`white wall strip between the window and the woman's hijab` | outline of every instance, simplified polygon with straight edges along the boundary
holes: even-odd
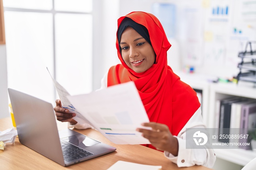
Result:
[[[109,67],[120,63],[116,51],[118,0],[93,0],[93,90]]]

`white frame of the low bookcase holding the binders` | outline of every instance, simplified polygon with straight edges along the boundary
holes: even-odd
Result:
[[[216,100],[232,96],[256,99],[256,87],[252,82],[214,83],[209,77],[199,74],[177,73],[181,80],[189,84],[193,89],[203,92],[202,116],[207,128],[215,128]],[[215,149],[217,158],[245,166],[253,158],[256,152],[244,149]]]

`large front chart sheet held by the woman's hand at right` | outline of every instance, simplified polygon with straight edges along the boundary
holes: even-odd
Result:
[[[116,144],[150,144],[136,128],[149,122],[133,81],[68,100],[102,135]]]

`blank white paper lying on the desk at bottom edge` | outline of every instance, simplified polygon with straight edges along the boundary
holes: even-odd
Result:
[[[125,161],[117,161],[107,170],[131,170],[131,169],[139,169],[139,170],[161,170],[162,166],[154,166],[154,165],[143,165],[139,163],[133,162],[125,162]]]

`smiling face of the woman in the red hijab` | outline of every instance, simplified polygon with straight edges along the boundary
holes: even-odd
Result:
[[[121,35],[120,46],[124,62],[136,73],[145,72],[155,62],[153,47],[131,27]]]

